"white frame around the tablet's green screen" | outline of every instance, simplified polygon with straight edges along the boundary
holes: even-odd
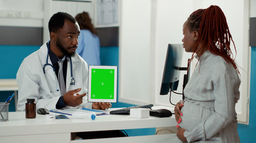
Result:
[[[91,98],[91,81],[92,81],[92,69],[113,69],[114,70],[114,99],[92,99]],[[88,102],[117,102],[117,66],[89,66],[88,72]]]

